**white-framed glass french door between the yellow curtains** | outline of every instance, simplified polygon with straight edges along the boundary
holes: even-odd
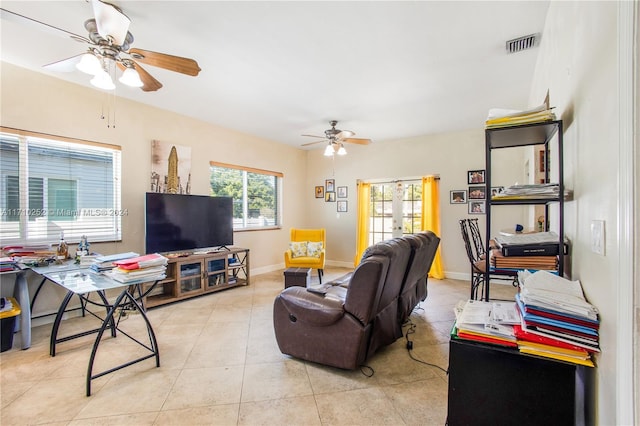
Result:
[[[422,183],[372,183],[369,212],[369,245],[420,232]]]

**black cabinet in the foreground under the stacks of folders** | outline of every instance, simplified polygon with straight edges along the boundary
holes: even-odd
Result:
[[[590,425],[594,369],[451,339],[447,424]]]

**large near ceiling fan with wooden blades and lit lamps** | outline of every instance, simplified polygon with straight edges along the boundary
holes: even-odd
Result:
[[[88,50],[61,61],[44,65],[57,72],[71,72],[76,69],[93,75],[91,84],[101,89],[115,89],[112,75],[115,67],[122,71],[120,82],[132,87],[140,87],[145,92],[153,92],[162,87],[162,83],[145,71],[138,62],[163,68],[169,71],[197,76],[198,63],[189,58],[131,48],[133,35],[129,32],[131,20],[122,10],[102,0],[91,1],[94,18],[87,19],[84,27],[88,37],[54,27],[32,18],[0,8],[2,19],[22,24],[37,24],[42,30],[49,30],[75,41],[86,43]]]

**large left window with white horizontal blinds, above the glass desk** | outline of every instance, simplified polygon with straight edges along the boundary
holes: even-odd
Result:
[[[0,128],[3,245],[121,239],[120,148]]]

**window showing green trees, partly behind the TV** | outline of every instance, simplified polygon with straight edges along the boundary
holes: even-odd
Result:
[[[233,229],[279,227],[283,174],[211,162],[211,196],[233,197]]]

